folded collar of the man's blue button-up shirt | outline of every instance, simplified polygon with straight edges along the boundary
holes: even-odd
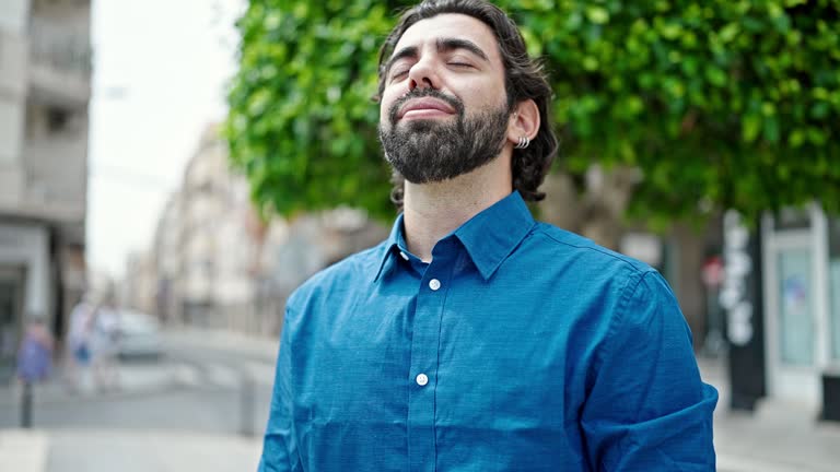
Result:
[[[530,210],[520,192],[514,191],[472,216],[453,234],[464,245],[481,276],[488,280],[527,236],[534,224]],[[397,257],[396,253],[408,252],[402,231],[402,213],[400,213],[382,247],[380,267],[374,282],[383,272],[390,269],[394,258]]]

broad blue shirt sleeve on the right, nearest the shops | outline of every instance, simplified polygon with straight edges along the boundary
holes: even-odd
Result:
[[[581,413],[597,471],[714,471],[718,391],[702,382],[691,332],[656,272],[631,278],[595,359]]]

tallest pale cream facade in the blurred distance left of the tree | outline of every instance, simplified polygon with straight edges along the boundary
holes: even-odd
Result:
[[[256,216],[247,181],[229,167],[226,144],[209,127],[180,190],[179,305],[182,319],[195,326],[235,329],[252,308]]]

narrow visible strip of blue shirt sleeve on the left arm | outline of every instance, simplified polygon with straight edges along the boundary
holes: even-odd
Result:
[[[300,471],[292,416],[292,310],[287,306],[258,472]]]

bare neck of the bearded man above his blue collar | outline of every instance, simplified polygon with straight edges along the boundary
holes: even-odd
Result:
[[[406,181],[402,223],[408,250],[431,262],[439,240],[508,197],[513,191],[510,162],[510,156],[502,155],[450,180]]]

